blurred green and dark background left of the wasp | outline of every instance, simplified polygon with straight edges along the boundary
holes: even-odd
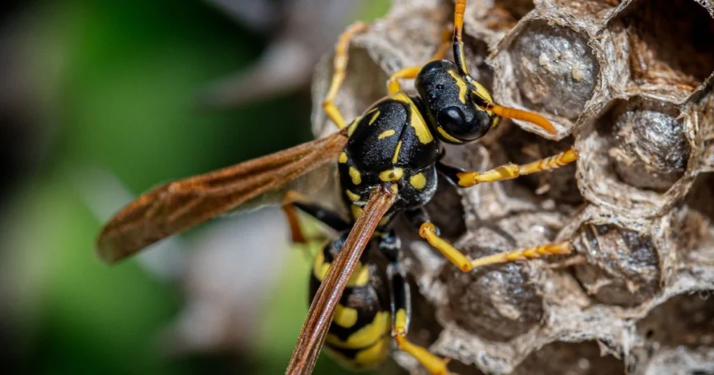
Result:
[[[344,23],[386,9],[388,0],[363,1]],[[275,35],[198,0],[9,1],[2,21],[2,368],[282,374],[307,310],[303,251],[258,246],[281,267],[256,287],[265,298],[241,292],[236,301],[255,301],[251,320],[238,324],[251,331],[180,353],[166,331],[191,295],[188,276],[136,259],[106,266],[93,251],[101,221],[127,194],[311,139],[307,86],[229,108],[197,105],[199,93],[253,64]],[[206,230],[177,243],[191,244],[191,254],[201,242],[190,239]],[[235,329],[223,324],[216,329]],[[322,356],[316,374],[342,372]]]

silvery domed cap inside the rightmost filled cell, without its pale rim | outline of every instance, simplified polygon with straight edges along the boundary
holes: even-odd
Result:
[[[600,118],[615,173],[640,189],[666,191],[680,179],[690,146],[674,104],[642,96],[617,101]]]

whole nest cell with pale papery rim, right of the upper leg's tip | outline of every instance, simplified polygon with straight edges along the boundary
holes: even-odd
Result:
[[[618,99],[575,142],[578,182],[588,201],[630,217],[660,212],[686,193],[692,126],[675,104]]]

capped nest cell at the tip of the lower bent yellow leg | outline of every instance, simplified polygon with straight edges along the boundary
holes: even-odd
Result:
[[[573,236],[573,245],[588,259],[574,266],[575,278],[597,301],[632,307],[660,291],[658,251],[641,228],[586,222]]]

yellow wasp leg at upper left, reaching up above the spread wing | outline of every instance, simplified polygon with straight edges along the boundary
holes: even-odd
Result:
[[[351,24],[342,33],[340,39],[337,41],[335,46],[335,60],[334,72],[332,74],[332,81],[330,82],[330,89],[327,91],[327,96],[322,102],[322,108],[325,110],[327,116],[337,125],[340,129],[345,129],[347,123],[345,122],[345,117],[342,116],[342,112],[334,103],[335,96],[337,96],[337,91],[339,91],[342,82],[345,80],[345,71],[347,69],[347,49],[350,45],[350,40],[355,34],[361,33],[367,29],[367,24],[357,21]]]

